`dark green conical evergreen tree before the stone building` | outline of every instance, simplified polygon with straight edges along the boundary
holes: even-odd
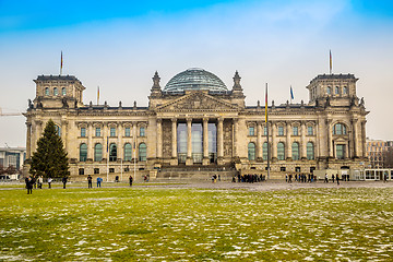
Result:
[[[51,119],[45,127],[44,135],[37,142],[37,151],[33,154],[29,172],[45,178],[61,178],[70,175],[67,152]]]

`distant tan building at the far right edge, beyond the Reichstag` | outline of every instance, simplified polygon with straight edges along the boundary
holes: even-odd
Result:
[[[393,141],[367,139],[367,155],[371,168],[385,168],[385,153],[393,150]]]

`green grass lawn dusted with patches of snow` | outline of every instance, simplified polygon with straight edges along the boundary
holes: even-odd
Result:
[[[0,261],[391,261],[393,189],[0,190]]]

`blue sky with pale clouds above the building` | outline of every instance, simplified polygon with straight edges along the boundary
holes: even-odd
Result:
[[[239,71],[247,105],[308,102],[306,86],[329,73],[354,73],[365,97],[367,135],[393,140],[393,2],[329,1],[14,1],[0,0],[0,107],[23,112],[40,74],[79,78],[84,103],[147,105],[188,68],[215,73],[231,88]],[[24,117],[0,117],[0,147],[25,146]]]

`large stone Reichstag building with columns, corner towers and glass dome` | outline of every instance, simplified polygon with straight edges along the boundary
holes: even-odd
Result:
[[[265,107],[246,105],[240,79],[236,72],[228,88],[211,72],[188,69],[162,88],[156,72],[148,107],[126,107],[121,102],[85,104],[85,86],[75,76],[40,75],[25,112],[25,171],[49,119],[57,124],[74,178],[133,170],[156,178],[176,168],[264,172],[267,146],[272,177],[362,168],[368,111],[356,95],[353,74],[318,75],[306,86],[308,103],[272,102],[269,145]]]

